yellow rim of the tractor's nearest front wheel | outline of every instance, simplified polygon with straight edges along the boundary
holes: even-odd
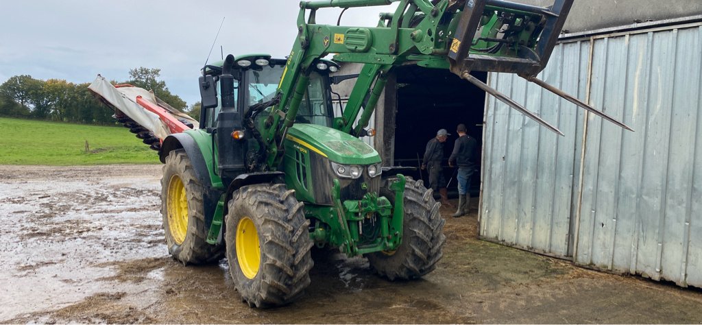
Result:
[[[237,260],[245,277],[256,277],[261,263],[261,250],[256,225],[249,217],[241,218],[237,225]]]

